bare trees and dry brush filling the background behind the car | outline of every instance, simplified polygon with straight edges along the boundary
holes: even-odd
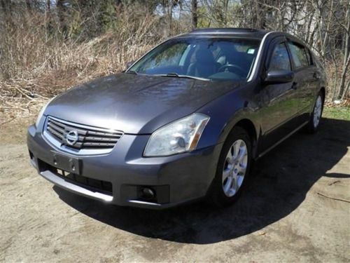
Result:
[[[319,56],[328,101],[350,91],[350,0],[0,0],[1,103],[125,69],[195,27],[294,34]]]

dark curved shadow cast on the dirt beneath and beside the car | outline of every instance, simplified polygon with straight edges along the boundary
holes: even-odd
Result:
[[[131,233],[181,243],[216,243],[258,231],[293,212],[350,146],[350,121],[323,119],[316,135],[297,133],[255,163],[237,203],[216,209],[195,203],[170,210],[105,205],[54,187],[59,198],[85,215]]]

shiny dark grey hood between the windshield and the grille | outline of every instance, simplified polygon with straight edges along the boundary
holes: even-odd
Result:
[[[226,81],[116,74],[57,96],[45,115],[129,134],[149,134],[237,86]]]

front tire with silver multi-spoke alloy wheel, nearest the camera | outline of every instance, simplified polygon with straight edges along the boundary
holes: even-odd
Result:
[[[251,138],[246,130],[237,126],[232,129],[221,150],[216,175],[207,196],[209,202],[217,207],[235,203],[246,186],[250,168]]]

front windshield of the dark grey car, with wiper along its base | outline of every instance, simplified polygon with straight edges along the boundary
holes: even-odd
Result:
[[[244,80],[251,72],[259,44],[257,39],[170,39],[151,50],[127,73]]]

